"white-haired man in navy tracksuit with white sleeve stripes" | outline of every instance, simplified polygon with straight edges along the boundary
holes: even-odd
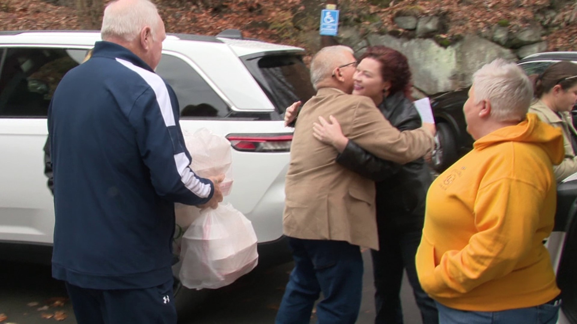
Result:
[[[48,109],[53,276],[80,324],[176,323],[174,202],[215,207],[222,177],[188,167],[177,98],[154,73],[166,37],[156,7],[112,2],[101,33]]]

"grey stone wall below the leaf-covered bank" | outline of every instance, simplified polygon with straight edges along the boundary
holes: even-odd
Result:
[[[547,49],[543,37],[546,31],[540,24],[516,32],[505,25],[496,25],[484,33],[448,39],[443,35],[446,26],[442,17],[399,16],[394,21],[400,28],[394,32],[374,32],[378,28],[361,24],[340,25],[336,39],[358,55],[374,45],[402,52],[409,59],[415,88],[426,95],[470,85],[474,71],[495,58],[516,61]],[[318,33],[302,31],[299,36],[310,51],[319,49]]]

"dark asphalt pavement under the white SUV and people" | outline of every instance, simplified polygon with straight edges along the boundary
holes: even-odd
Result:
[[[374,321],[373,280],[370,254],[363,254],[365,276],[358,324]],[[201,307],[179,318],[182,324],[268,324],[276,311],[293,263],[256,270],[234,284],[210,291]],[[406,324],[421,324],[421,317],[406,278],[402,288]],[[50,276],[50,266],[3,262],[0,268],[0,314],[2,324],[76,323],[61,281]],[[56,318],[61,319],[58,321]],[[315,323],[313,314],[310,323]]]

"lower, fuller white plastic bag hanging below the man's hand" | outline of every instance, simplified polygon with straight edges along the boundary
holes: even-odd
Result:
[[[204,209],[182,237],[179,278],[185,287],[230,285],[258,263],[252,224],[230,204]]]

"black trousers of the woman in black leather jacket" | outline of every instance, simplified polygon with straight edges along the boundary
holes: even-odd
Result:
[[[380,225],[380,224],[379,224]],[[422,231],[395,231],[391,225],[379,226],[380,250],[371,250],[373,257],[374,306],[376,324],[403,324],[400,286],[403,269],[407,270],[413,295],[421,310],[423,324],[439,323],[439,314],[433,299],[421,288],[415,266],[415,254],[421,243]]]

